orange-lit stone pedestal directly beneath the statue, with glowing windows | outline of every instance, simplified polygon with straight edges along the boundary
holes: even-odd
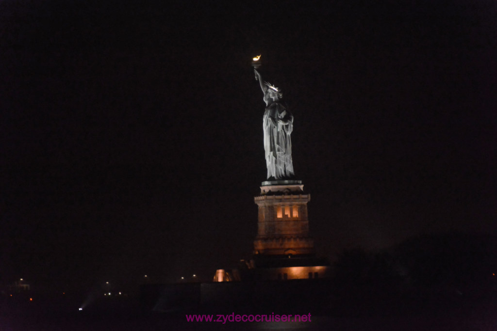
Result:
[[[262,182],[260,195],[254,198],[259,207],[258,230],[254,254],[310,255],[314,241],[309,236],[307,203],[304,185],[296,180]]]

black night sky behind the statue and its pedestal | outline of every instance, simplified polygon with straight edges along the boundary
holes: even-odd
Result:
[[[165,2],[0,2],[1,284],[209,279],[249,258],[258,54],[321,256],[497,235],[495,1]]]

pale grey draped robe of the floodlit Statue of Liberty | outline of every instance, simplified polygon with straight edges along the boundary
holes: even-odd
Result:
[[[278,123],[282,120],[284,123]],[[292,142],[293,116],[278,102],[266,107],[262,119],[267,178],[290,178],[293,176]]]

